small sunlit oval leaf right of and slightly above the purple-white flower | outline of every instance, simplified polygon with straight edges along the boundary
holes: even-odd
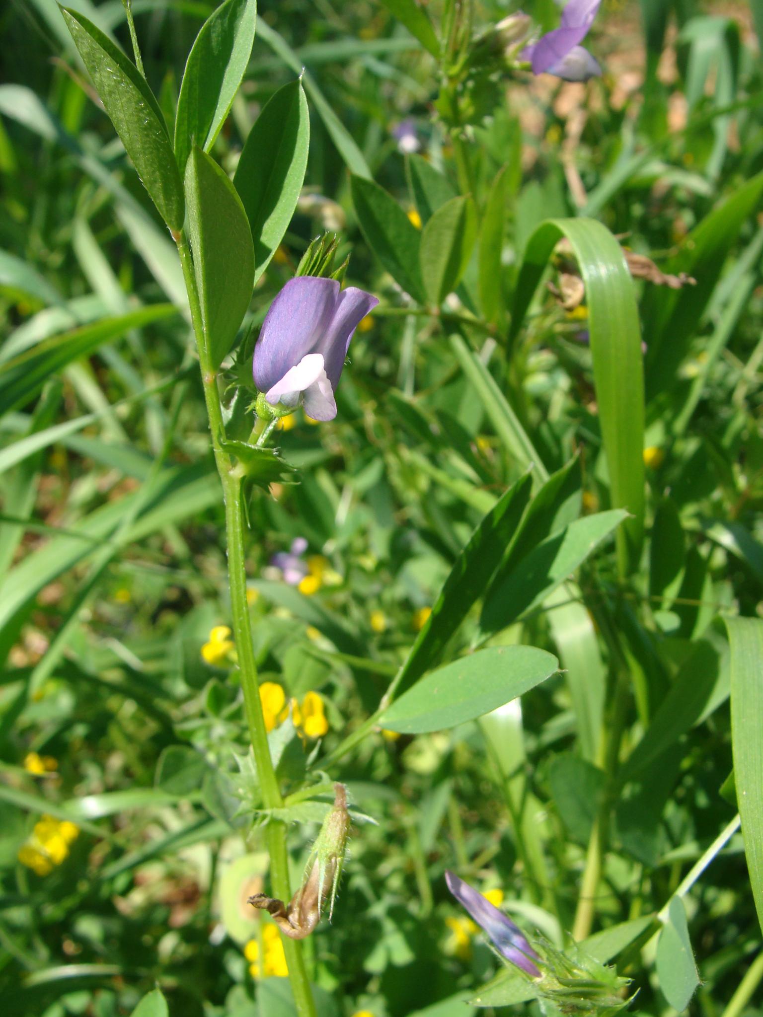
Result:
[[[437,208],[421,234],[419,260],[426,295],[439,306],[466,272],[477,239],[471,197],[454,197]]]

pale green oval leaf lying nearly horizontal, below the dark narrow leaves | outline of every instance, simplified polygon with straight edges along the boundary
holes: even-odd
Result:
[[[559,661],[532,646],[500,646],[470,654],[417,681],[377,719],[401,734],[456,727],[504,706],[545,681]]]

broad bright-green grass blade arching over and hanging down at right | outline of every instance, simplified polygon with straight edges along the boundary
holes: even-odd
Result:
[[[611,504],[626,508],[632,517],[617,538],[618,564],[625,576],[638,566],[644,533],[643,366],[633,281],[620,244],[605,227],[592,219],[560,219],[549,220],[535,231],[517,280],[511,339],[519,332],[562,237],[572,245],[585,283]]]

